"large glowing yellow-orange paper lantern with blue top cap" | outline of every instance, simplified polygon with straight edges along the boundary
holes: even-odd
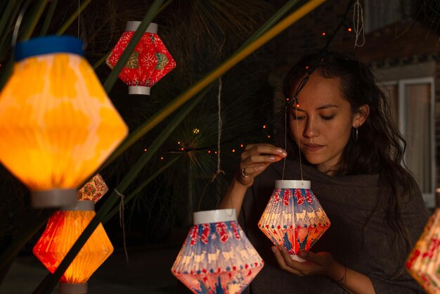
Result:
[[[71,205],[82,184],[127,136],[127,126],[74,37],[15,47],[0,94],[0,161],[32,191],[34,207]]]

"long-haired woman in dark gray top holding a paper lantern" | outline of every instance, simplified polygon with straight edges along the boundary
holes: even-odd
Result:
[[[317,58],[302,58],[285,79],[285,96],[295,98],[307,70],[316,65],[288,110],[292,136],[287,135],[286,148],[247,146],[219,205],[241,211],[242,228],[266,262],[248,290],[422,292],[404,264],[429,213],[402,165],[405,141],[392,122],[387,98],[362,63],[332,52],[318,63]],[[282,177],[311,181],[332,223],[308,253],[299,253],[309,262],[292,260],[257,226]]]

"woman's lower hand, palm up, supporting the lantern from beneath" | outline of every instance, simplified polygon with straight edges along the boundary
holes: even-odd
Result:
[[[280,264],[281,269],[290,272],[291,274],[296,274],[297,276],[309,276],[311,274],[324,274],[330,277],[330,279],[336,276],[342,276],[344,274],[344,268],[342,267],[342,273],[339,274],[340,265],[333,259],[333,256],[327,252],[321,253],[311,253],[301,251],[298,256],[301,257],[306,262],[298,262],[292,260],[289,253],[282,246],[273,246],[273,253],[275,254],[278,264]]]

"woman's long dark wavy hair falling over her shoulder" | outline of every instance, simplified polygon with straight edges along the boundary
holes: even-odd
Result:
[[[323,56],[305,56],[294,65],[285,78],[285,97],[292,100],[302,79],[313,69],[323,77],[339,79],[341,94],[349,101],[352,113],[358,112],[365,104],[370,107],[367,119],[358,128],[357,141],[350,136],[339,169],[333,174],[380,175],[382,195],[370,217],[383,207],[389,226],[396,232],[395,238],[403,238],[408,253],[412,244],[402,222],[400,203],[405,197],[413,197],[418,188],[403,163],[406,141],[394,124],[387,96],[377,87],[375,77],[366,65],[345,53],[327,51]],[[292,138],[288,141],[287,154],[298,157],[297,144]]]

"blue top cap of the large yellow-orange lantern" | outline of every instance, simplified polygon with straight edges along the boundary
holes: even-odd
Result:
[[[84,56],[82,41],[72,36],[37,37],[15,45],[15,61],[49,53],[73,53]]]

